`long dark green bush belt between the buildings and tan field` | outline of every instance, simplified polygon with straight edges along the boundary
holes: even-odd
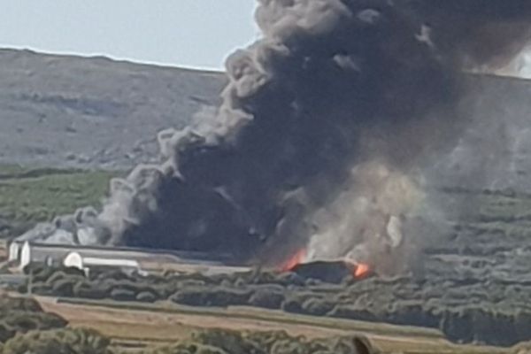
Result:
[[[165,301],[202,307],[255,306],[312,316],[438,328],[459,342],[511,345],[527,340],[531,330],[526,292],[516,292],[511,297],[505,292],[505,303],[492,305],[499,295],[496,291],[504,289],[501,284],[491,284],[489,291],[483,289],[484,284],[446,281],[442,285],[437,280],[420,284],[407,278],[346,280],[330,285],[304,281],[296,273],[207,277],[179,273],[140,276],[112,271],[91,272],[85,277],[79,271],[47,267],[35,267],[33,273],[33,291],[45,296],[112,299],[125,304]],[[481,302],[470,301],[473,296],[481,296]],[[467,300],[456,302],[459,297]]]

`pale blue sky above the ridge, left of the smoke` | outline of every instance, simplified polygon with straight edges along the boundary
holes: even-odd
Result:
[[[0,47],[220,69],[254,0],[0,0]]]

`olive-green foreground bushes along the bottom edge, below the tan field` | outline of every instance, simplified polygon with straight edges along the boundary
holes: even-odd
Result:
[[[71,275],[75,275],[72,274]],[[43,312],[35,299],[0,296],[0,354],[118,354],[112,339],[84,328],[69,328],[65,319]],[[199,330],[169,345],[146,348],[143,354],[325,354],[375,353],[365,337],[307,339],[283,331],[239,332]]]

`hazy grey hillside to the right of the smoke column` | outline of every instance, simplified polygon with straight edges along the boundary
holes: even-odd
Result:
[[[432,161],[433,177],[443,186],[531,190],[531,81],[471,75],[466,85],[466,124],[458,146]]]

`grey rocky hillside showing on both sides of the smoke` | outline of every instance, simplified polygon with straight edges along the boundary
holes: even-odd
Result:
[[[0,50],[0,165],[128,169],[157,158],[156,135],[219,104],[223,73]],[[458,148],[444,185],[531,189],[531,81],[467,79]]]

